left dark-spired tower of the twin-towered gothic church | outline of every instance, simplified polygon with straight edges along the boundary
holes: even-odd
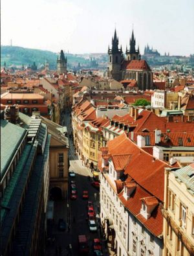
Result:
[[[109,77],[115,80],[121,78],[121,64],[123,61],[122,47],[118,48],[118,37],[116,35],[116,29],[114,30],[114,38],[112,38],[112,49],[108,49],[109,54]]]

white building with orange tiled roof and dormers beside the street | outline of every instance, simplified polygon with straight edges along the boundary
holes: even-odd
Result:
[[[100,217],[116,255],[162,255],[164,167],[126,134],[102,147]]]

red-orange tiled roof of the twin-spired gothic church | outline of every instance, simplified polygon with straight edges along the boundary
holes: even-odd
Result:
[[[146,60],[125,60],[122,64],[122,69],[125,70],[145,70],[151,71]]]

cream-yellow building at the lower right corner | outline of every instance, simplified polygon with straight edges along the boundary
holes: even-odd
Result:
[[[163,256],[194,255],[194,165],[165,170]]]

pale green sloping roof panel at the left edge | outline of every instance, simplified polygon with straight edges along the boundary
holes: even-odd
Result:
[[[27,131],[16,124],[1,120],[1,178]]]

